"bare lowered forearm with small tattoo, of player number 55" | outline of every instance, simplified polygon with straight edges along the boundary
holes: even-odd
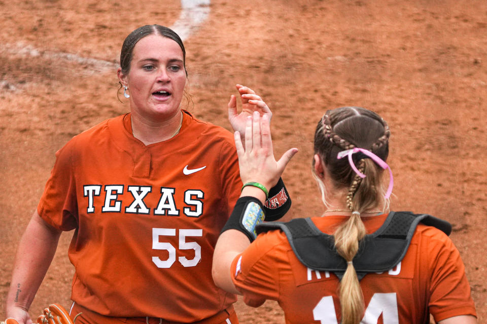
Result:
[[[34,212],[17,249],[7,295],[7,317],[20,324],[32,323],[28,309],[51,264],[60,235],[60,230]]]

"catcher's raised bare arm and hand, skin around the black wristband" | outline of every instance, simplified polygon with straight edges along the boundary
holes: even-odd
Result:
[[[241,142],[240,134],[235,132],[240,178],[244,184],[257,182],[265,188],[271,188],[277,183],[284,168],[298,150],[292,148],[284,153],[279,161],[276,161],[272,150],[269,117],[263,115],[262,123],[260,119],[258,112],[253,113],[253,118],[247,118],[245,148]],[[245,186],[240,197],[249,196],[257,198],[261,204],[264,203],[266,198],[262,189],[255,186]],[[241,211],[237,211],[238,205],[237,202],[227,224],[239,223]],[[218,287],[232,293],[238,293],[233,285],[230,267],[235,257],[250,245],[250,239],[243,229],[232,227],[226,225],[224,232],[218,238],[213,256],[212,273],[215,284]],[[226,228],[228,230],[225,230]]]

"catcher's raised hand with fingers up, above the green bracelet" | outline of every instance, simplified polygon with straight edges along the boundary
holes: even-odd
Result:
[[[269,116],[262,118],[255,111],[246,118],[245,148],[239,132],[235,132],[240,178],[243,183],[258,182],[267,189],[273,187],[281,177],[297,148],[291,148],[276,161],[272,148]]]

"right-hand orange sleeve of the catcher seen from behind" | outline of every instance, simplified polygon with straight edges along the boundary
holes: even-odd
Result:
[[[435,321],[459,315],[476,316],[465,266],[451,239],[443,233],[435,235],[425,255],[432,265],[429,309]]]

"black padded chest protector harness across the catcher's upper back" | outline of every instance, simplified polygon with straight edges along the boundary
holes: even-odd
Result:
[[[359,251],[353,259],[359,280],[367,273],[394,268],[406,254],[419,222],[434,226],[446,235],[451,232],[450,223],[431,215],[390,212],[384,224],[374,233],[365,235],[359,243]],[[260,224],[257,233],[273,229],[281,229],[286,234],[296,257],[306,267],[334,272],[341,279],[347,264],[334,248],[333,235],[320,231],[309,218]]]

